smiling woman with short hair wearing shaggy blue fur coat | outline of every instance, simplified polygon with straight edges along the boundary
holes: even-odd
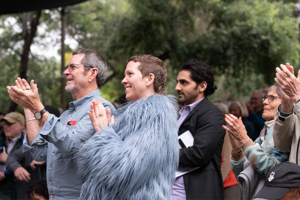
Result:
[[[126,99],[110,117],[100,101],[91,104],[95,135],[77,155],[85,177],[81,199],[169,199],[179,162],[177,112],[164,96],[164,62],[152,55],[128,60]]]

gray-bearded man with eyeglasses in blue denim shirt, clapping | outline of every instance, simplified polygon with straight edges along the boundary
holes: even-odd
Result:
[[[23,151],[30,151],[35,161],[47,160],[50,200],[79,199],[84,178],[72,158],[79,145],[95,134],[87,114],[91,111],[90,104],[93,100],[100,100],[105,109],[115,110],[99,91],[106,72],[107,64],[100,53],[91,49],[74,52],[64,71],[65,89],[72,94],[74,101],[59,118],[44,108],[33,80],[29,86],[25,79],[18,78],[16,86],[7,86],[10,98],[24,107],[27,119]],[[43,126],[41,130],[38,122]]]

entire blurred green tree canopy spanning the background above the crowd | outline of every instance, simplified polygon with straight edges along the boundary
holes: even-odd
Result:
[[[66,14],[68,37],[78,47],[95,49],[107,59],[107,82],[100,88],[110,101],[125,94],[121,84],[127,59],[152,54],[164,60],[169,94],[179,67],[199,59],[214,69],[218,89],[211,100],[247,100],[254,89],[273,84],[275,68],[285,62],[299,69],[299,26],[293,2],[266,0],[91,0],[70,6]],[[21,15],[0,17],[0,111],[9,100],[6,85],[13,84],[22,46]],[[58,31],[59,12],[42,11],[35,43]],[[54,58],[30,54],[29,79],[35,79],[44,102],[59,106],[60,67]],[[66,102],[72,100],[67,96]]]

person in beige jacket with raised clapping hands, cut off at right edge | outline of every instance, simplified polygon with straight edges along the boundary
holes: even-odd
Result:
[[[300,166],[300,70],[296,77],[289,63],[280,67],[282,71],[276,67],[274,78],[283,91],[274,118],[274,145],[281,151],[291,151],[289,162]]]

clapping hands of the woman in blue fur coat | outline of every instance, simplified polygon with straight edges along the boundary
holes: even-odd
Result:
[[[96,132],[107,127],[108,122],[111,124],[115,122],[115,116],[111,116],[111,110],[107,109],[105,112],[105,108],[100,100],[93,100],[93,103],[91,103],[91,112],[88,111],[88,115]]]

